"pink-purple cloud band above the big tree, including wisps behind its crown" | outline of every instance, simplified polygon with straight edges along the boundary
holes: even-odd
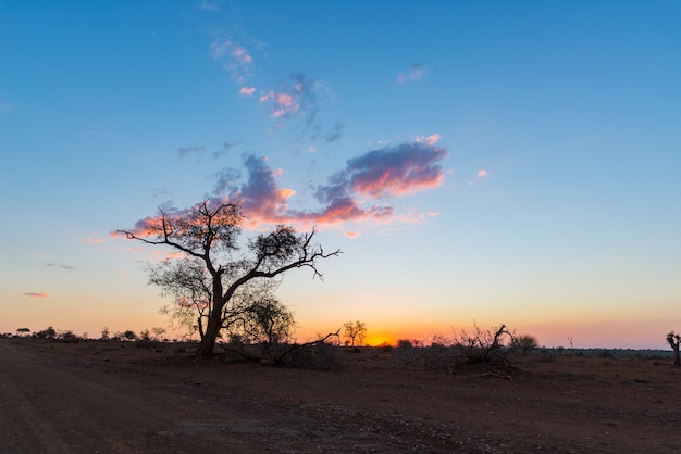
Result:
[[[441,163],[447,151],[429,141],[412,141],[371,150],[348,160],[339,172],[314,188],[315,209],[292,209],[289,199],[296,194],[293,188],[277,184],[282,169],[272,169],[267,157],[244,155],[246,180],[239,184],[239,173],[226,168],[215,175],[213,203],[238,202],[247,218],[246,228],[261,224],[289,224],[309,227],[344,225],[347,223],[403,223],[423,222],[435,213],[420,213],[410,209],[396,213],[392,200],[419,191],[433,189],[444,181],[446,172]],[[188,211],[164,210],[182,215]],[[146,235],[151,226],[160,225],[160,218],[149,216],[135,224],[136,235]],[[121,236],[112,232],[113,237]],[[349,238],[359,234],[348,231]]]

